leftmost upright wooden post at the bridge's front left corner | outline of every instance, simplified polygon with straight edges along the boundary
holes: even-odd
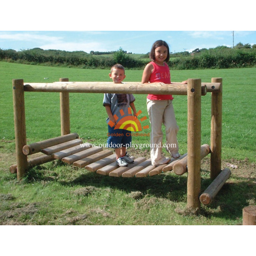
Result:
[[[22,152],[23,147],[27,144],[23,79],[13,79],[12,87],[17,179],[20,179],[24,176],[26,169],[28,168],[27,156],[25,156]]]

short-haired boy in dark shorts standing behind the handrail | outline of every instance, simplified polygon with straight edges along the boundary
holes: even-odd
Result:
[[[122,83],[123,79],[125,78],[123,66],[120,64],[114,65],[111,68],[109,76],[114,83]],[[132,142],[132,133],[124,129],[115,130],[117,121],[115,120],[114,115],[117,115],[118,119],[129,116],[128,108],[131,106],[133,115],[135,116],[136,109],[134,101],[135,97],[132,94],[104,94],[103,106],[108,114],[106,123],[108,123],[109,130],[107,145],[108,147],[114,148],[116,153],[116,164],[120,167],[127,166],[129,163],[134,162],[134,160],[131,159],[126,153],[126,146],[130,145]],[[121,116],[120,110],[123,111],[122,113],[124,113],[124,115]],[[114,123],[114,125],[111,127],[109,122],[110,124]]]

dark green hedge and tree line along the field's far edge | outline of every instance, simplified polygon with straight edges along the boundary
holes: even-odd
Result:
[[[100,56],[100,55],[106,56]],[[143,69],[150,61],[149,54],[135,58],[122,48],[118,51],[99,53],[91,51],[42,50],[33,48],[15,51],[0,48],[0,60],[31,65],[77,67],[84,69],[109,69],[116,63],[129,69]],[[256,45],[243,45],[241,42],[234,48],[218,46],[210,49],[195,49],[192,53],[170,53],[170,69],[227,69],[254,67],[256,65]]]

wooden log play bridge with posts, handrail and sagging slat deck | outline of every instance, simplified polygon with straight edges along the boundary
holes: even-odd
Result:
[[[211,78],[210,83],[201,82],[201,79],[188,79],[187,84],[126,82],[118,86],[112,82],[70,82],[68,78],[60,78],[59,82],[53,83],[24,83],[23,79],[13,79],[12,86],[17,163],[10,166],[10,172],[17,173],[18,179],[25,175],[29,167],[55,159],[114,177],[139,178],[170,170],[177,175],[187,172],[187,208],[199,209],[200,202],[209,204],[230,177],[228,168],[221,169],[222,78]],[[61,136],[27,144],[25,92],[60,93]],[[201,145],[201,97],[207,92],[211,93],[210,146]],[[78,134],[70,133],[69,93],[187,95],[187,153],[160,166],[151,165],[151,159],[139,157],[127,167],[118,167],[113,151],[83,143]],[[28,160],[28,156],[35,153],[41,155]],[[208,154],[212,182],[201,194],[201,159]]]

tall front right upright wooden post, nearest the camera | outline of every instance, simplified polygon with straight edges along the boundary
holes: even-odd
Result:
[[[200,209],[201,79],[187,83],[187,208]]]

